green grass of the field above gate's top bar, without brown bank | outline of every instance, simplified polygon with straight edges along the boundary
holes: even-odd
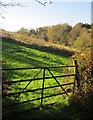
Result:
[[[27,45],[11,38],[3,38],[3,63],[11,67],[59,66],[70,64],[73,52],[57,50],[37,44]],[[5,67],[5,66],[4,66]]]

